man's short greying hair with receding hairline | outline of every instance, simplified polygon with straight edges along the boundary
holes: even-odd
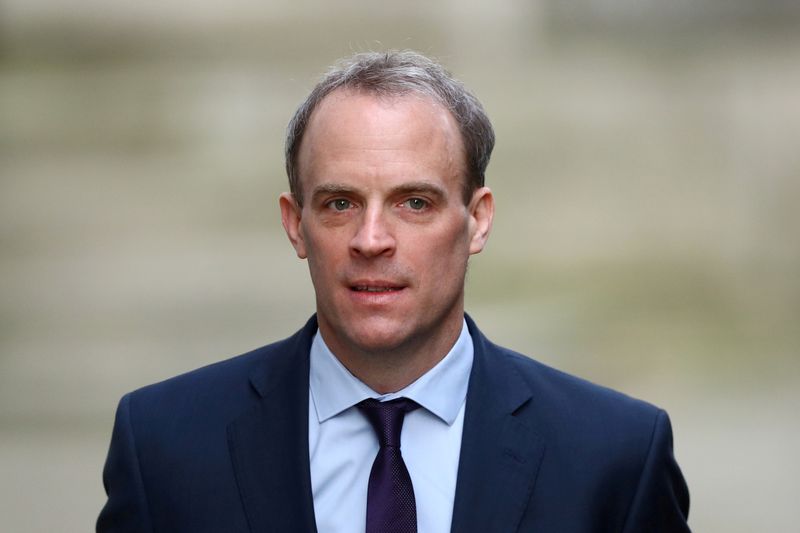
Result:
[[[494,148],[494,130],[483,106],[442,65],[417,52],[365,52],[338,62],[317,83],[295,111],[286,131],[286,175],[289,188],[302,205],[297,157],[303,134],[319,103],[339,88],[376,96],[396,97],[417,93],[449,110],[458,124],[466,155],[464,203],[483,187],[486,167]]]

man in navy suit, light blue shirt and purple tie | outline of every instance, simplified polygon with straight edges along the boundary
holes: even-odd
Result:
[[[359,54],[289,125],[283,226],[316,315],[120,402],[98,531],[683,532],[667,415],[464,314],[494,202],[479,102]]]

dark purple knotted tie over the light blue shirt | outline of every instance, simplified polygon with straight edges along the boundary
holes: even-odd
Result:
[[[358,407],[372,424],[381,445],[369,473],[366,533],[416,533],[417,502],[400,454],[400,432],[406,413],[419,405],[408,398],[398,398],[388,402],[368,399]]]

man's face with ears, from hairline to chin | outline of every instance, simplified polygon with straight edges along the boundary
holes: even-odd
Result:
[[[451,114],[426,97],[337,90],[314,111],[298,154],[303,206],[284,194],[281,213],[340,357],[443,356],[454,342],[467,260],[493,214],[487,188],[464,205],[463,150]]]

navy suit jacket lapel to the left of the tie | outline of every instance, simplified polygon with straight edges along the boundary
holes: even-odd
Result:
[[[258,394],[228,426],[228,445],[253,533],[316,532],[308,461],[312,319],[251,375]]]

